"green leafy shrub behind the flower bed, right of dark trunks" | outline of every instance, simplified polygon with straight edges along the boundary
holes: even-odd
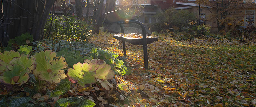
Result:
[[[48,18],[48,21],[44,28],[44,38],[48,38],[49,28],[52,17]],[[92,27],[86,22],[77,20],[75,16],[56,16],[52,23],[52,30],[50,33],[51,38],[68,40],[68,41],[88,41],[91,37]]]

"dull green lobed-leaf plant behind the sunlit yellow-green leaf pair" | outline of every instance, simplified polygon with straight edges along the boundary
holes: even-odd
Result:
[[[57,52],[57,56],[64,57],[69,67],[72,67],[74,64],[78,62],[83,63],[85,59],[90,58],[81,56],[80,51],[70,51],[67,48]]]

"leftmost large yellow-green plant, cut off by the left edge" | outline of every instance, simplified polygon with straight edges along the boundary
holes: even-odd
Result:
[[[22,85],[29,79],[28,73],[34,69],[35,59],[19,52],[4,51],[0,53],[0,78],[7,84]]]

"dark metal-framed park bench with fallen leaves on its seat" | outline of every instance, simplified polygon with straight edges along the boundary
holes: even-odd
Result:
[[[105,22],[103,24],[113,24],[116,23],[121,28],[122,34],[113,35],[114,38],[122,40],[123,43],[123,52],[124,56],[126,55],[125,42],[134,44],[134,45],[143,45],[143,56],[144,56],[144,66],[145,69],[148,69],[148,50],[147,44],[157,41],[157,37],[146,36],[145,26],[138,20],[126,20],[124,10],[115,10],[108,13],[105,13]],[[123,24],[138,24],[142,30],[142,38],[129,38],[124,37],[124,27]]]

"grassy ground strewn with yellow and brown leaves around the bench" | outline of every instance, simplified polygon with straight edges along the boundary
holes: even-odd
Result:
[[[111,34],[95,35],[91,42],[123,56],[121,41]],[[122,91],[111,94],[113,106],[256,106],[255,43],[160,35],[148,44],[148,70],[141,45],[126,43],[126,53],[131,72],[116,76]]]

